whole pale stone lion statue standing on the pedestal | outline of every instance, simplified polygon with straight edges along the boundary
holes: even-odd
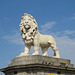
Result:
[[[47,49],[51,47],[54,51],[54,57],[60,58],[54,38],[50,35],[42,35],[39,33],[37,22],[33,16],[25,13],[22,16],[19,26],[20,31],[22,31],[22,39],[25,43],[25,51],[19,56],[29,55],[31,46],[34,46],[34,53],[32,55],[38,55],[39,47],[41,47],[42,55],[47,56]]]

